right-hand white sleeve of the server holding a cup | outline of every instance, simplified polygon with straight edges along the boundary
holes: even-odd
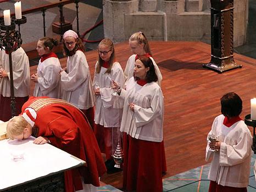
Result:
[[[242,163],[251,153],[252,136],[242,131],[236,145],[220,144],[220,166],[234,166]]]

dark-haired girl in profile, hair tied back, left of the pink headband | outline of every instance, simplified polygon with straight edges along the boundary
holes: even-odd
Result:
[[[37,42],[36,50],[41,59],[37,72],[31,75],[31,80],[35,82],[35,97],[60,97],[59,71],[62,67],[57,55],[52,52],[53,47],[57,45],[58,40],[49,37],[43,37]]]

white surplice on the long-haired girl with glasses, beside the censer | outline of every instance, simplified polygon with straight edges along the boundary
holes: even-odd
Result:
[[[96,66],[98,62],[96,63]],[[125,78],[121,65],[118,62],[113,63],[110,74],[105,73],[107,69],[101,67],[99,74],[94,72],[93,88],[99,86],[101,95],[96,96],[96,110],[94,122],[104,127],[120,127],[121,115],[123,109],[115,109],[111,88],[112,80],[124,86]]]

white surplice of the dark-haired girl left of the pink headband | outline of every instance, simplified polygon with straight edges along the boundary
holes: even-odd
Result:
[[[37,66],[38,82],[35,83],[35,97],[60,98],[60,70],[62,67],[58,58],[50,57],[43,62],[40,59]]]

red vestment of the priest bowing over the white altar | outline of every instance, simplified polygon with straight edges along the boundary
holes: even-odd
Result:
[[[35,137],[47,137],[52,145],[86,161],[86,166],[65,172],[66,191],[82,189],[80,176],[86,184],[99,186],[99,177],[106,168],[96,138],[84,114],[60,99],[31,97],[22,108],[36,111]]]

